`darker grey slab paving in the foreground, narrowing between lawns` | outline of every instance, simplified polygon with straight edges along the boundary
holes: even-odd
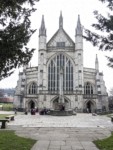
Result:
[[[11,129],[11,128],[10,128]],[[32,150],[98,150],[92,141],[111,135],[106,128],[22,128],[13,126],[16,134],[37,140]]]

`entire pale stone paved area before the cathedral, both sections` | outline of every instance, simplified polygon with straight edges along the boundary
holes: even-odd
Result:
[[[111,135],[113,123],[105,116],[17,115],[8,128],[22,137],[36,139],[31,150],[98,150],[92,141]]]

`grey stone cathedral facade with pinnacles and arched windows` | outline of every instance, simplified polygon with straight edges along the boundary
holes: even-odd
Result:
[[[78,16],[75,41],[63,28],[62,13],[59,28],[46,41],[46,28],[42,16],[39,29],[38,66],[23,67],[19,73],[14,105],[20,109],[56,109],[60,93],[60,72],[62,70],[62,95],[66,109],[78,112],[108,109],[108,95],[99,72],[96,56],[95,68],[83,66],[83,31]]]

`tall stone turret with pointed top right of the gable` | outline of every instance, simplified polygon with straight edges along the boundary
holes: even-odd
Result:
[[[75,29],[75,87],[83,91],[83,37],[80,16]]]

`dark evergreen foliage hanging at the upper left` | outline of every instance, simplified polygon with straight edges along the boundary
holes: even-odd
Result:
[[[39,0],[0,0],[0,80],[27,64],[34,52],[27,43],[35,32],[30,16]]]

